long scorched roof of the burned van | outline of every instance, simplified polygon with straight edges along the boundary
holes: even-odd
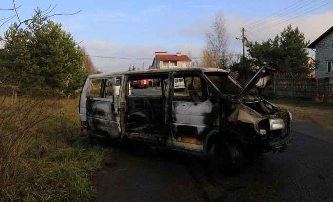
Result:
[[[105,77],[111,75],[121,75],[121,74],[145,74],[145,73],[169,73],[169,72],[225,72],[228,73],[226,70],[218,69],[218,68],[175,68],[175,69],[152,69],[152,70],[140,70],[140,71],[123,71],[123,72],[111,72],[111,73],[98,73],[89,75],[88,78],[98,78],[98,77]]]

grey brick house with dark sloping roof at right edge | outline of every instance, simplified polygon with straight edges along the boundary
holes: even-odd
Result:
[[[315,59],[320,61],[315,78],[333,78],[333,26],[307,48],[315,49]]]

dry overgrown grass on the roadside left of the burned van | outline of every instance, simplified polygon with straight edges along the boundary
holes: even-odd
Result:
[[[0,96],[0,201],[89,201],[106,148],[80,133],[78,99]]]

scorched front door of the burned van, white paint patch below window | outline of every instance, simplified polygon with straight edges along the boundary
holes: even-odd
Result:
[[[203,150],[205,135],[219,128],[219,98],[211,93],[206,80],[197,73],[175,73],[174,77],[185,78],[187,89],[170,91],[173,92],[172,146]]]

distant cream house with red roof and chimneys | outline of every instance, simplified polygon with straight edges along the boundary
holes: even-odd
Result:
[[[174,69],[191,67],[191,59],[187,55],[177,53],[169,55],[167,52],[155,52],[155,58],[151,64],[151,69]]]

